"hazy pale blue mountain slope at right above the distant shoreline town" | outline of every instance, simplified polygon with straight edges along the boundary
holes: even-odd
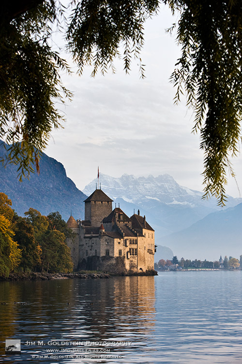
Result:
[[[163,237],[163,244],[181,259],[218,260],[242,255],[242,203],[207,215],[181,232]]]

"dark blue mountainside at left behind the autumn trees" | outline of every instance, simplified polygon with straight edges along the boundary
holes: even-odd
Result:
[[[4,153],[0,143],[0,155]],[[42,215],[59,211],[67,220],[71,212],[75,218],[84,218],[84,199],[87,198],[76,188],[75,183],[66,176],[64,166],[45,153],[40,160],[40,174],[31,173],[30,180],[17,179],[17,166],[10,164],[5,168],[0,165],[0,192],[12,200],[12,207],[18,215],[24,215],[30,207]]]

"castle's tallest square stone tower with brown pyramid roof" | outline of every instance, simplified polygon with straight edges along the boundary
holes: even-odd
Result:
[[[112,212],[112,202],[101,189],[96,189],[91,196],[85,199],[85,221],[91,226],[100,227],[102,220]]]

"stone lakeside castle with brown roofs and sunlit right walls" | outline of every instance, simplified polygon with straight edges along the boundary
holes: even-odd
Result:
[[[119,207],[113,210],[113,200],[97,188],[84,202],[85,220],[71,215],[67,221],[74,232],[66,240],[74,270],[102,270],[107,262],[133,272],[154,268],[154,230],[139,210],[131,217]]]

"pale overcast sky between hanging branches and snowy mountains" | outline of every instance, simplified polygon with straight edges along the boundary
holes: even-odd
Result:
[[[121,60],[117,72],[91,77],[87,67],[82,76],[62,76],[74,93],[72,102],[57,105],[65,114],[64,129],[51,133],[45,153],[61,162],[77,188],[101,173],[158,176],[170,174],[180,185],[202,191],[203,154],[199,134],[193,134],[192,110],[186,99],[174,105],[176,89],[169,82],[180,48],[166,33],[177,17],[163,6],[145,26],[141,52],[145,79],[140,79],[136,61],[126,75]],[[242,156],[232,160],[237,183],[242,186]],[[237,183],[228,179],[227,193],[240,197]]]

